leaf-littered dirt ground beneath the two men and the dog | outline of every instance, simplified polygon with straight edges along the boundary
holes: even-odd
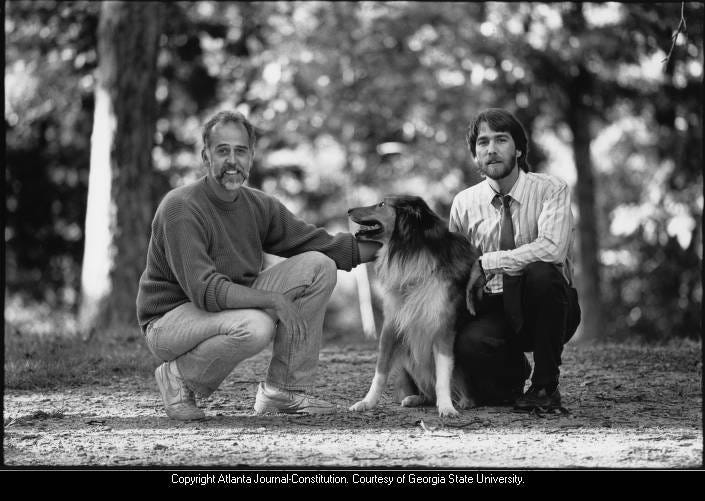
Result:
[[[169,420],[153,378],[108,377],[56,391],[6,390],[4,464],[25,466],[700,468],[702,354],[677,347],[566,346],[568,414],[510,407],[401,408],[255,416],[269,350],[248,360],[200,405],[209,419]],[[317,394],[343,409],[364,396],[373,346],[325,347]],[[156,366],[156,364],[155,364]]]

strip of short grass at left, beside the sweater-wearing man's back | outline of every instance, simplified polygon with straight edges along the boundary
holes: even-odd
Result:
[[[117,376],[148,377],[156,360],[136,327],[75,334],[20,330],[5,324],[5,388],[41,389],[100,383]]]

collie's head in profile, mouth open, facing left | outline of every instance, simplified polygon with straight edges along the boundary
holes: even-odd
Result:
[[[374,205],[355,207],[348,217],[360,225],[355,233],[358,240],[382,244],[428,236],[438,228],[445,228],[443,220],[433,212],[421,197],[390,195]]]

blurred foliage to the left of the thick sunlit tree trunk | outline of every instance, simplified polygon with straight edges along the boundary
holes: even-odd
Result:
[[[79,286],[99,4],[8,2],[6,283],[52,305]]]

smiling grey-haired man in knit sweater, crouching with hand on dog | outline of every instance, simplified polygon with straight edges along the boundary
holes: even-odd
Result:
[[[241,361],[274,341],[255,412],[330,413],[312,397],[323,316],[336,269],[371,261],[378,245],[330,235],[274,197],[244,186],[255,131],[236,112],[203,128],[207,174],[171,190],[152,222],[137,317],[169,417],[205,417],[206,397]],[[263,253],[285,259],[262,271]]]

